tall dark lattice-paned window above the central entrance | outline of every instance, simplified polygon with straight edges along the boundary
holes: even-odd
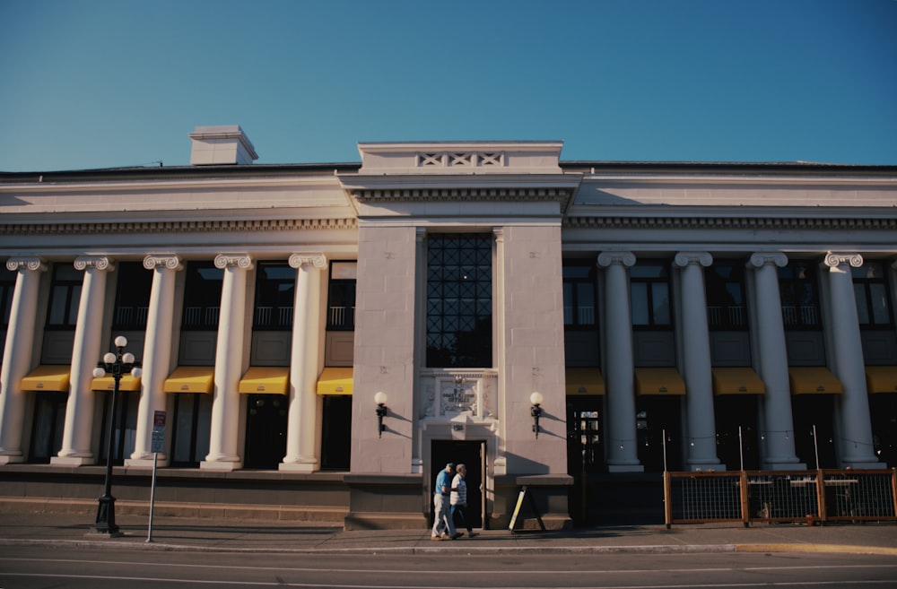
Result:
[[[492,235],[427,239],[427,366],[492,366]]]

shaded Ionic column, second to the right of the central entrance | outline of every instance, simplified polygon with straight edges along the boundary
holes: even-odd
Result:
[[[710,329],[703,267],[713,257],[707,252],[680,252],[685,409],[688,420],[688,458],[692,470],[723,470],[717,458],[717,430],[713,417],[713,377],[710,372]]]

